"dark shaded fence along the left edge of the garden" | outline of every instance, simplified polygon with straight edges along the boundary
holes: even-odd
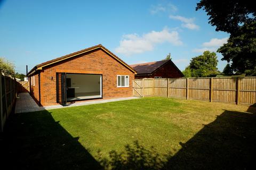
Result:
[[[4,76],[0,72],[0,132],[3,131],[4,124],[14,108],[19,87],[19,82],[14,78]]]

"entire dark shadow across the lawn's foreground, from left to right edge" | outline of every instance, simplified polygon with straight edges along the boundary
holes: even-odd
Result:
[[[182,149],[173,156],[158,155],[134,141],[107,158],[99,152],[97,162],[77,140],[42,111],[11,118],[1,146],[12,162],[10,169],[250,169],[255,163],[256,114],[224,111],[180,142]]]

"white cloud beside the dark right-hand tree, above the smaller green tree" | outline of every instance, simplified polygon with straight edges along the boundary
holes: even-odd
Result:
[[[217,49],[222,46],[223,44],[227,43],[228,38],[212,38],[209,42],[205,42],[202,44],[202,48],[195,48],[192,50],[192,52],[195,53],[203,53],[206,50],[209,50],[210,52],[216,52]]]

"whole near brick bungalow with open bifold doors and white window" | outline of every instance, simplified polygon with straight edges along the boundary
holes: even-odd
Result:
[[[30,95],[42,106],[131,97],[134,74],[131,66],[97,45],[36,65],[28,73]]]

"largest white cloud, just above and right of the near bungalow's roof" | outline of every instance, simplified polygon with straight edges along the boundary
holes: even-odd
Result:
[[[145,35],[139,36],[137,34],[124,35],[120,41],[119,47],[115,49],[116,53],[124,55],[132,55],[151,51],[156,44],[171,43],[172,45],[182,45],[177,31],[170,31],[164,28],[162,31],[151,31]]]

